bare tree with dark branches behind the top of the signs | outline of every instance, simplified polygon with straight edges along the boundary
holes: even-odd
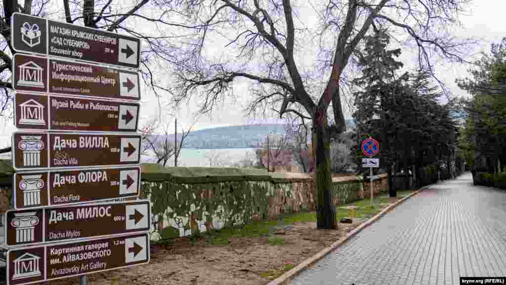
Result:
[[[141,75],[148,88],[166,78],[164,68],[172,62],[170,52],[173,27],[165,17],[175,0],[3,0],[0,7],[0,116],[12,116],[12,59],[16,53],[10,44],[11,16],[19,12],[51,20],[80,24],[141,38]],[[161,96],[160,89],[154,90]],[[159,107],[161,106],[158,102]],[[1,151],[9,152],[6,148]]]

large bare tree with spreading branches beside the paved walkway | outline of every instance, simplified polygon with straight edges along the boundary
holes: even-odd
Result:
[[[461,61],[462,48],[475,42],[459,40],[450,30],[458,25],[457,16],[467,2],[181,0],[181,6],[167,13],[167,17],[181,19],[180,35],[184,37],[174,50],[179,56],[175,80],[170,87],[159,88],[170,89],[176,102],[199,96],[205,112],[232,94],[233,82],[249,80],[250,112],[273,107],[280,116],[292,113],[310,120],[317,164],[317,225],[336,228],[327,111],[332,104],[335,132],[345,131],[345,69],[359,56],[357,47],[373,28],[387,29],[401,35],[405,47],[418,52],[420,68],[433,70],[431,55]],[[313,17],[299,17],[308,12],[305,9],[316,11],[316,28],[302,19],[315,20]],[[221,57],[202,52],[218,38],[228,40]],[[303,53],[312,46],[319,51],[309,58]]]

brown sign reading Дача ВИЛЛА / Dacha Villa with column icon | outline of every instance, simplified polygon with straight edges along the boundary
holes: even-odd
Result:
[[[15,132],[12,138],[16,171],[137,165],[140,161],[140,135]]]

